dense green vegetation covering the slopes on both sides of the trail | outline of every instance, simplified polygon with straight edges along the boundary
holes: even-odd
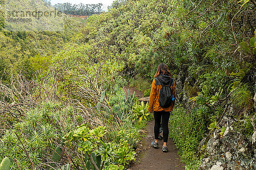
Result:
[[[150,116],[122,87],[131,79],[148,94],[161,62],[184,84],[178,100],[193,105],[170,118],[187,169],[199,165],[199,143],[228,105],[255,114],[254,0],[115,1],[72,31],[71,23],[56,33],[1,28],[0,159],[16,169],[127,168]],[[249,118],[236,119],[251,135]]]

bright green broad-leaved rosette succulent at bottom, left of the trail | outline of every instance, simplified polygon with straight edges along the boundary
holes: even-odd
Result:
[[[78,152],[87,156],[97,153],[101,156],[103,164],[119,164],[127,166],[130,161],[135,160],[135,152],[132,149],[131,143],[125,140],[125,136],[132,138],[132,134],[125,134],[125,131],[119,131],[118,136],[121,136],[120,140],[115,142],[108,142],[104,140],[104,135],[107,133],[106,127],[99,126],[90,128],[84,124],[76,130],[70,132],[65,137],[67,144],[70,147],[76,145]],[[131,140],[130,140],[131,141]],[[87,160],[86,160],[87,161]],[[84,162],[85,163],[85,162]]]

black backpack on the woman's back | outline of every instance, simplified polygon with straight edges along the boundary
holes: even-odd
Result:
[[[161,81],[159,81],[160,85],[162,85],[163,87],[160,89],[159,98],[157,96],[157,99],[159,101],[160,107],[162,108],[168,108],[172,104],[172,102],[174,102],[175,100],[172,94],[172,89],[171,89],[173,82],[174,80],[171,79],[170,84],[165,85]]]

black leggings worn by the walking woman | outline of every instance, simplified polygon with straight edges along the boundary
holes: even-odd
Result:
[[[162,127],[163,127],[163,142],[167,142],[168,136],[169,136],[168,122],[170,118],[170,112],[154,111],[154,120],[155,120],[154,136],[155,136],[155,139],[158,139],[160,124],[161,124],[161,117],[162,117]]]

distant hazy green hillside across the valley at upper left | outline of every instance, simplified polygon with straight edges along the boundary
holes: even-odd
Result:
[[[33,68],[33,64],[29,65],[28,62],[36,65],[49,60],[74,37],[79,28],[76,20],[65,15],[39,17],[51,11],[54,12],[54,8],[44,0],[11,0],[1,3],[0,74],[4,80],[7,81],[8,75],[12,73],[26,74],[27,78],[31,78],[40,66]],[[23,19],[25,22],[17,22]],[[47,58],[40,60],[39,56]]]

